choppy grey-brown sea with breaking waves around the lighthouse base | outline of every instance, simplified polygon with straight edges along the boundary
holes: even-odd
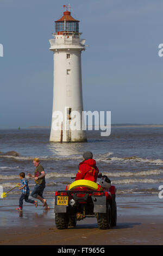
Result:
[[[34,157],[39,157],[46,173],[45,198],[65,190],[78,172],[84,151],[92,151],[99,172],[116,186],[117,196],[156,196],[163,185],[163,127],[160,125],[114,125],[111,135],[87,131],[86,143],[49,142],[49,128],[0,130],[0,186],[7,192],[26,173],[30,192],[35,182]],[[99,179],[97,180],[99,182]],[[19,198],[15,188],[8,198]],[[3,200],[0,200],[0,205]]]

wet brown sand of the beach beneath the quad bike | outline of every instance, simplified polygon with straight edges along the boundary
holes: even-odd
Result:
[[[138,200],[139,199],[139,200]],[[55,227],[51,210],[24,205],[0,206],[0,245],[162,245],[162,202],[157,197],[117,199],[117,227],[100,230],[96,218],[77,222],[77,227]],[[123,201],[123,203],[122,203]],[[145,201],[145,202],[144,202]]]

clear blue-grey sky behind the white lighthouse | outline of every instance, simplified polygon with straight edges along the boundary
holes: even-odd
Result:
[[[85,111],[112,124],[162,124],[162,0],[69,0],[89,47],[82,53]],[[51,126],[59,0],[0,0],[0,129]]]

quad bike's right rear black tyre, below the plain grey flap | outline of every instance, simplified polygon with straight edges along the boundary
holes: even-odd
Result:
[[[106,205],[106,214],[97,214],[97,224],[99,229],[109,229],[111,225],[111,208]]]

